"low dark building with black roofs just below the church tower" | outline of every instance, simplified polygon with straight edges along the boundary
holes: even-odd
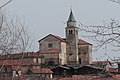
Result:
[[[54,76],[72,76],[72,75],[98,75],[103,68],[85,65],[81,67],[57,66],[52,69]]]

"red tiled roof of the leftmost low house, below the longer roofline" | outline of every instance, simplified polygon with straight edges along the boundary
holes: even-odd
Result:
[[[21,61],[21,60],[3,60],[0,61],[0,66],[7,65],[7,66],[33,66],[39,65],[33,61]]]

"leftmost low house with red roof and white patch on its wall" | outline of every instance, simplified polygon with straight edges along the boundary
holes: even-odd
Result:
[[[6,60],[0,61],[0,76],[1,77],[15,77],[22,75],[22,69],[25,72],[28,68],[39,67],[39,64],[28,61]]]

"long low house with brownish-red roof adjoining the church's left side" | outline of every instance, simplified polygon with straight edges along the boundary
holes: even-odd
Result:
[[[33,61],[35,63],[41,63],[42,55],[37,52],[26,52],[16,54],[4,54],[0,55],[0,61],[3,60],[22,60],[22,61]]]

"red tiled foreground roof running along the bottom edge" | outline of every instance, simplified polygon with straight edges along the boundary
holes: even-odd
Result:
[[[29,76],[20,76],[20,77],[0,77],[0,80],[27,80]],[[37,76],[33,76],[37,78]],[[38,78],[37,78],[38,79]],[[40,79],[40,78],[39,78]],[[120,74],[113,75],[112,77],[100,77],[100,76],[85,76],[85,75],[74,75],[72,77],[61,77],[61,78],[46,78],[46,80],[120,80]]]

